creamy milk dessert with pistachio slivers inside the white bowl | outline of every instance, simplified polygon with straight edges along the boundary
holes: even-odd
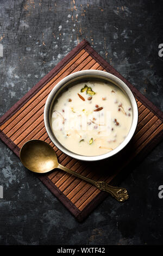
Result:
[[[132,109],[126,94],[111,82],[88,80],[64,90],[52,111],[52,130],[68,150],[84,156],[108,153],[130,130]]]

